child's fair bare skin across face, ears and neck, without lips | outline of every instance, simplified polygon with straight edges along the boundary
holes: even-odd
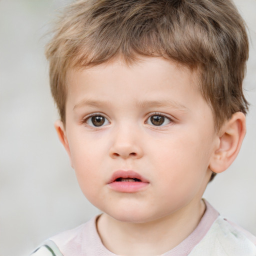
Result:
[[[82,192],[104,212],[97,223],[103,244],[122,255],[173,248],[204,212],[211,170],[225,170],[238,153],[244,115],[235,113],[216,132],[196,75],[160,57],[132,65],[119,58],[69,70],[67,78],[66,123],[55,128]],[[117,170],[133,170],[147,184],[115,191],[108,183]]]

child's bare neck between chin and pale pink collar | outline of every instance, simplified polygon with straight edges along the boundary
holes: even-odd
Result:
[[[157,255],[184,240],[195,229],[204,210],[200,200],[146,223],[122,222],[103,213],[97,228],[104,246],[115,254]]]

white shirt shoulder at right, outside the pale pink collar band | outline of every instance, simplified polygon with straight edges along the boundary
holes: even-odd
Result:
[[[218,216],[204,238],[194,247],[189,256],[255,256],[256,237],[238,225]]]

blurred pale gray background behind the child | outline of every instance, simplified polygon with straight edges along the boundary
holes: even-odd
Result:
[[[98,210],[82,195],[57,139],[44,44],[55,11],[70,0],[0,0],[0,256],[28,255],[47,237]],[[247,134],[235,162],[204,197],[256,234],[256,1],[235,0],[251,43]]]

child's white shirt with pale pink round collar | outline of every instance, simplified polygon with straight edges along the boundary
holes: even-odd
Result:
[[[161,256],[256,256],[256,237],[204,202],[206,210],[197,227]],[[100,240],[97,217],[46,240],[32,256],[116,256]]]

